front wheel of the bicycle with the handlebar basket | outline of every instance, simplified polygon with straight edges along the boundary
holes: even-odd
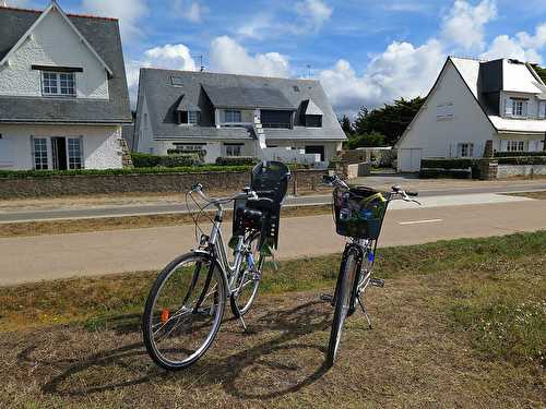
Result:
[[[327,364],[332,366],[340,349],[340,342],[343,332],[343,324],[347,317],[351,306],[351,297],[353,292],[353,282],[356,276],[356,256],[354,251],[349,251],[342,261],[340,279],[335,288],[335,309],[330,333],[330,342],[328,345]]]

